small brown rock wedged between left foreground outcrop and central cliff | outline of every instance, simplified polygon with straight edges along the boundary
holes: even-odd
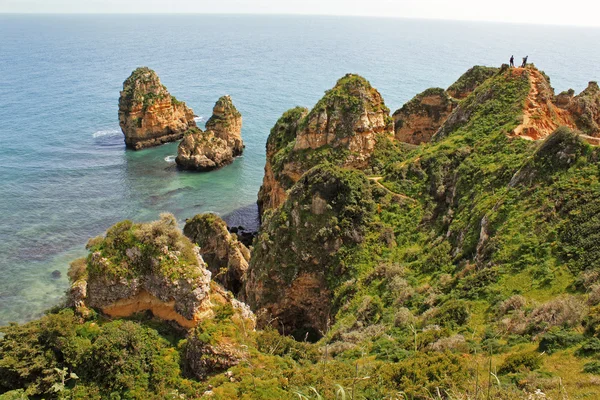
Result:
[[[200,247],[213,279],[235,295],[240,294],[250,250],[229,233],[225,221],[215,214],[199,214],[186,221],[183,233]]]

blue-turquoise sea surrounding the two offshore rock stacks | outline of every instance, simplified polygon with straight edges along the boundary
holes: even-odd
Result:
[[[0,325],[56,304],[69,261],[116,221],[242,209],[251,223],[269,129],[347,72],[392,110],[511,54],[579,91],[600,78],[599,41],[597,29],[394,19],[0,16]],[[142,65],[204,119],[230,94],[244,156],[195,174],[175,168],[176,144],[125,151],[119,90]]]

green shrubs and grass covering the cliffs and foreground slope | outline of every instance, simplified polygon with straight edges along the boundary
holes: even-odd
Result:
[[[290,157],[309,169],[283,182],[288,199],[265,212],[254,242],[247,300],[267,306],[258,315],[272,327],[254,332],[216,299],[215,318],[187,336],[147,318],[61,311],[3,328],[0,388],[45,398],[596,398],[600,151],[562,128],[543,143],[510,138],[527,71],[482,71],[489,79],[470,71],[477,88],[433,143],[379,138],[365,171],[342,168],[347,154],[332,147],[292,152],[306,110],[280,119],[268,143],[275,174]],[[461,79],[456,90],[471,85]],[[347,95],[364,82],[340,82],[348,92],[318,107],[352,111]],[[122,222],[90,242],[70,277],[139,276],[127,255],[136,248],[159,273],[185,276],[160,259],[159,243],[191,265],[175,232],[172,220]]]

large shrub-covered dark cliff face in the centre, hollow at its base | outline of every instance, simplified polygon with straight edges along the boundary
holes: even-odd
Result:
[[[265,214],[253,250],[246,296],[264,326],[303,339],[319,337],[333,319],[331,298],[349,266],[340,253],[362,243],[374,210],[367,178],[332,165],[314,167],[287,200]]]

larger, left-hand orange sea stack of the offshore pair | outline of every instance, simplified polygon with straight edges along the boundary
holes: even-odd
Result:
[[[125,144],[134,150],[179,140],[196,126],[192,109],[172,96],[147,67],[136,69],[123,83],[119,124]]]

